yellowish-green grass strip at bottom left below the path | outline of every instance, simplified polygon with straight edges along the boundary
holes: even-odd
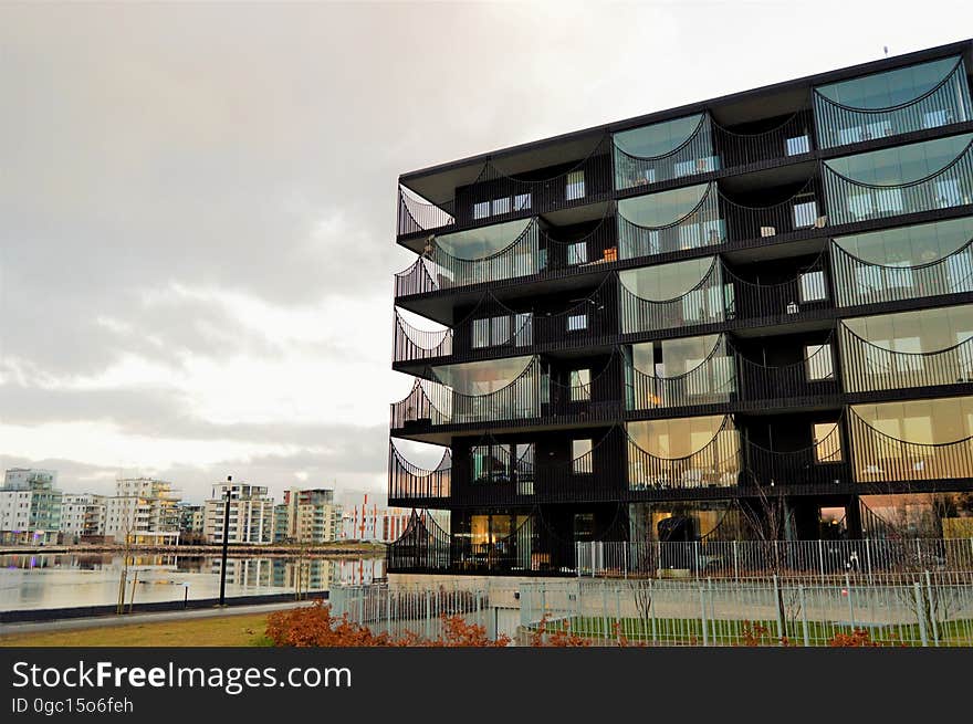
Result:
[[[249,647],[266,646],[266,613],[133,623],[0,636],[0,647]]]

